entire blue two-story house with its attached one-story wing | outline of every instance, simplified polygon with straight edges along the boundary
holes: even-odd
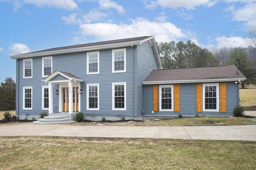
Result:
[[[16,59],[16,115],[85,119],[232,115],[239,104],[236,66],[162,69],[154,36],[58,47]],[[207,95],[206,95],[207,94]],[[224,96],[224,97],[223,97]]]

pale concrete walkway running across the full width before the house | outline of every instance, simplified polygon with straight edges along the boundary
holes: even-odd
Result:
[[[62,137],[117,137],[160,139],[205,139],[256,141],[256,125],[239,126],[75,126],[21,125],[1,126],[0,136],[62,136]]]

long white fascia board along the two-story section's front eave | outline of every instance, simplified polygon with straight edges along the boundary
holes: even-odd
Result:
[[[72,49],[54,50],[54,51],[44,51],[44,52],[40,52],[40,53],[14,55],[14,56],[10,56],[10,58],[12,58],[12,59],[25,59],[25,58],[31,58],[31,57],[47,56],[47,55],[58,55],[58,54],[76,53],[76,52],[93,51],[93,50],[110,49],[110,48],[122,48],[122,47],[131,46],[131,44],[132,45],[140,45],[140,42],[141,41],[129,41],[129,42],[125,42],[125,43],[96,45],[96,46],[89,46],[89,47],[79,47],[79,48],[72,48]]]

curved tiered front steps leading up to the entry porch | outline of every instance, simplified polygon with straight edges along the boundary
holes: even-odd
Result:
[[[58,124],[58,123],[74,123],[76,121],[69,118],[68,115],[51,115],[44,116],[42,119],[38,119],[38,121],[33,121],[34,124]]]

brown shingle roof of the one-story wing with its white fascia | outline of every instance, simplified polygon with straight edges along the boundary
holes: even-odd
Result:
[[[235,65],[152,70],[142,84],[244,81]]]

